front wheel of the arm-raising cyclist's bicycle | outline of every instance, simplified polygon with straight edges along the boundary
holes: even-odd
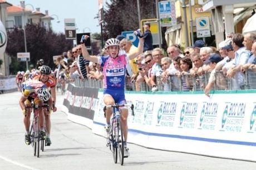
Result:
[[[117,121],[117,144],[118,144],[118,155],[119,163],[124,164],[124,133],[122,132],[122,122],[119,118]]]

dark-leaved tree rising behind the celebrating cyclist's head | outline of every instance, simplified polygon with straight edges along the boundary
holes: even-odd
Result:
[[[152,0],[140,0],[141,19],[156,18],[156,4]],[[139,28],[137,0],[111,0],[104,11],[104,39],[116,37],[122,31]],[[166,48],[165,31],[162,28],[163,48]]]

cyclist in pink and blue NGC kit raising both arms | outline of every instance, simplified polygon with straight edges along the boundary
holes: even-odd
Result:
[[[137,33],[135,33],[137,34]],[[106,41],[105,48],[108,53],[107,56],[90,56],[86,47],[85,41],[88,36],[82,36],[82,54],[83,57],[94,63],[101,64],[104,73],[104,103],[106,105],[112,104],[126,104],[125,99],[125,74],[126,74],[126,64],[129,62],[129,59],[134,59],[139,56],[139,54],[143,51],[143,39],[139,37],[139,47],[135,53],[129,54],[129,56],[122,52],[120,53],[120,45],[119,40],[116,38],[110,38]],[[121,109],[121,121],[122,121],[122,129],[124,131],[124,156],[129,156],[129,149],[127,147],[127,117],[128,117],[128,109]],[[112,108],[106,109],[106,131],[110,133],[110,118],[112,114]]]

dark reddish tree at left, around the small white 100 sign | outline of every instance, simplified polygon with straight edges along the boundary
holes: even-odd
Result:
[[[17,53],[25,52],[23,29],[14,28],[7,32],[8,43],[6,53],[11,56],[12,63],[10,72],[26,70],[26,63],[17,62]],[[67,40],[62,33],[47,31],[38,24],[27,24],[26,26],[27,52],[30,53],[30,62],[36,66],[38,59],[43,59],[45,64],[54,68],[52,56],[60,55],[62,52],[72,48],[72,41]]]

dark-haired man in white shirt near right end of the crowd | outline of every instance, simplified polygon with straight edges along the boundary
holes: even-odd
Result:
[[[244,89],[244,74],[240,72],[241,66],[248,62],[250,52],[243,45],[244,36],[240,33],[234,34],[232,46],[235,52],[235,60],[232,69],[229,69],[227,76],[232,78],[233,89]]]

